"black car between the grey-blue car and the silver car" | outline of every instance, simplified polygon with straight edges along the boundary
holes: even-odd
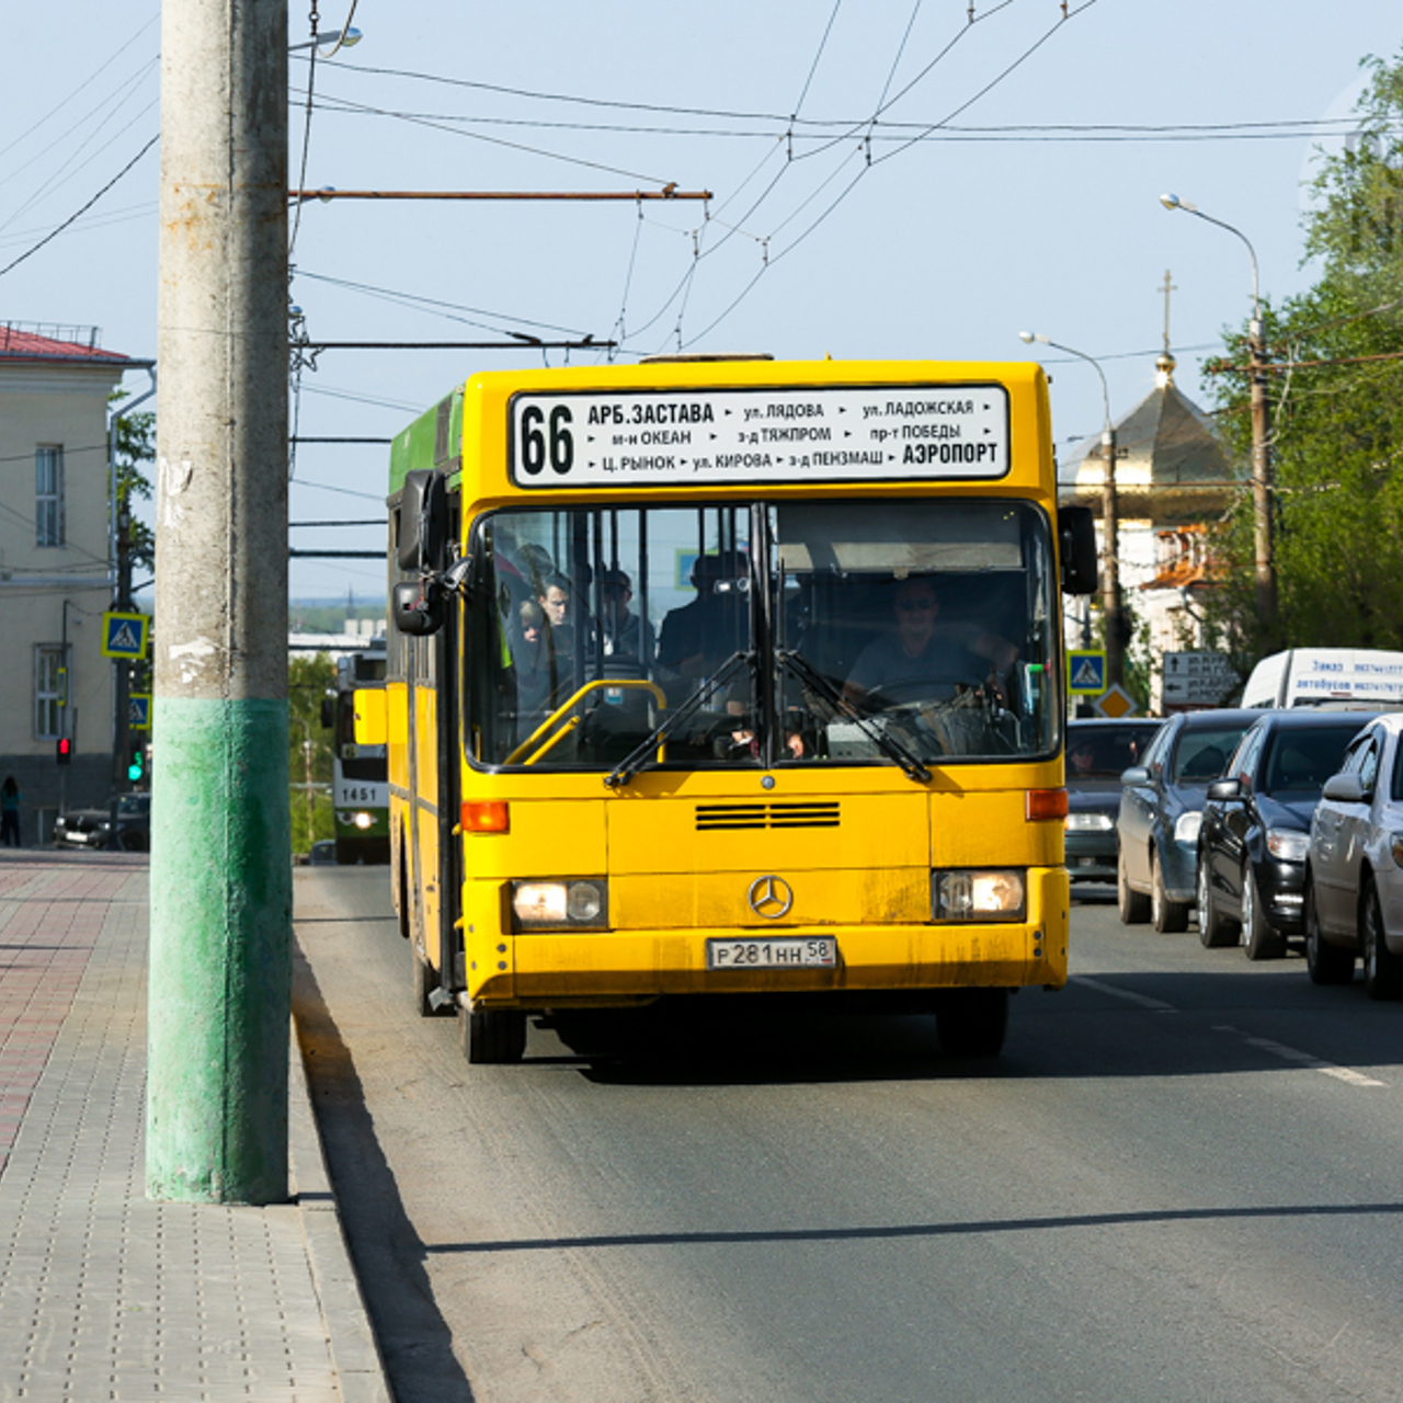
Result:
[[[1205,946],[1236,944],[1275,960],[1305,932],[1306,852],[1320,788],[1367,711],[1267,711],[1208,786],[1198,833],[1198,932]]]

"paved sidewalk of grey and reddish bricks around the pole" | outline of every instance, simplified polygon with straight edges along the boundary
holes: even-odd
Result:
[[[293,1201],[145,1197],[145,857],[0,853],[0,1399],[387,1403],[293,1044]]]

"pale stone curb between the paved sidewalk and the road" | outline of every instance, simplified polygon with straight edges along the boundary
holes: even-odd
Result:
[[[321,1320],[331,1362],[341,1383],[341,1396],[345,1403],[393,1403],[394,1393],[384,1376],[384,1361],[380,1358],[361,1284],[341,1230],[341,1214],[307,1092],[307,1069],[302,1061],[296,1021],[292,1024],[288,1063],[290,1187],[295,1202],[302,1209],[307,1261],[321,1302]]]

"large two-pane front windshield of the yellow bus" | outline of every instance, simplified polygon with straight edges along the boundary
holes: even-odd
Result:
[[[1056,577],[1027,502],[509,509],[478,521],[473,551],[478,765],[609,770],[659,728],[662,763],[689,769],[1058,742]]]

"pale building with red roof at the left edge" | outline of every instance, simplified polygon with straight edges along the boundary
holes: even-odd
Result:
[[[60,805],[105,804],[112,787],[108,396],[140,362],[97,341],[0,323],[0,779],[20,783],[25,845]]]

